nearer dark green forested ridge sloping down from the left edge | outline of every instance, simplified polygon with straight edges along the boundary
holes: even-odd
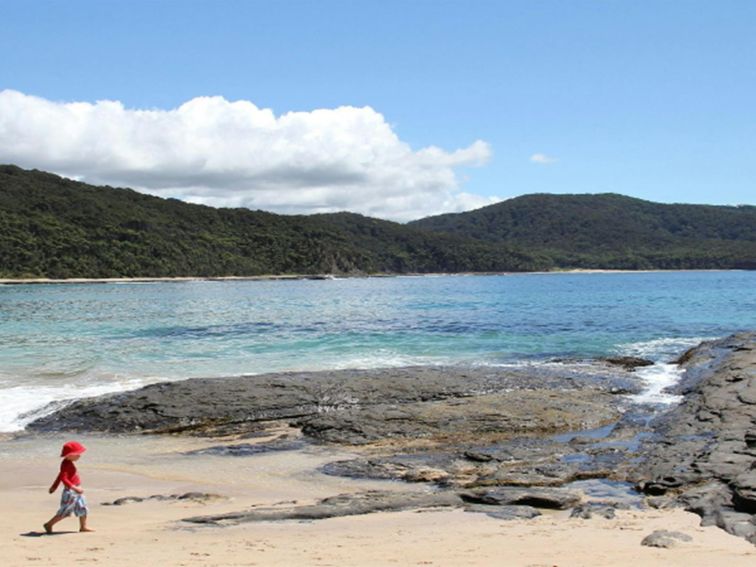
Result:
[[[339,213],[215,209],[0,166],[0,277],[428,273],[546,268],[467,237]]]

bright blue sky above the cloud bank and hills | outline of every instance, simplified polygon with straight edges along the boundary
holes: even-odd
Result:
[[[166,111],[221,96],[275,116],[369,106],[412,150],[446,152],[434,162],[438,175],[423,186],[427,196],[430,185],[445,184],[434,193],[435,208],[389,195],[411,214],[377,205],[362,211],[401,220],[534,192],[755,204],[754,29],[756,2],[749,1],[0,0],[0,90],[53,103],[107,99]],[[6,107],[6,119],[29,108],[28,101]],[[372,120],[360,122],[365,118]],[[308,124],[310,132],[334,127]],[[6,142],[17,131],[6,128]],[[487,149],[449,157],[476,141]],[[37,164],[8,147],[3,155],[0,143],[0,161],[53,164],[90,181],[114,175],[86,167],[79,173],[81,159]],[[299,158],[307,155],[300,150]],[[410,176],[430,167],[417,159],[422,164],[413,162]],[[350,185],[350,194],[376,192],[380,201],[376,179],[395,183],[394,170],[404,163],[389,164],[391,175],[371,170],[373,181]],[[245,175],[246,183],[270,177]],[[226,187],[220,198],[212,179],[148,177],[113,181],[139,186],[144,179],[146,190],[208,204],[360,210],[331,186],[303,203],[274,202],[232,199],[241,185]],[[201,188],[192,192],[182,182]]]

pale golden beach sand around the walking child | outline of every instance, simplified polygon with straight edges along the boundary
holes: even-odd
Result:
[[[59,494],[62,437],[0,441],[2,564],[15,565],[739,565],[756,564],[756,547],[681,510],[618,511],[617,518],[570,519],[569,512],[502,521],[461,510],[379,513],[316,522],[197,527],[182,518],[250,506],[307,503],[325,496],[382,490],[423,490],[397,482],[321,475],[322,463],[348,456],[324,448],[252,457],[186,456],[218,440],[80,436],[89,451],[79,462],[95,533],[75,519],[42,535]],[[207,503],[146,501],[103,506],[125,496],[216,493]],[[657,529],[692,537],[671,549],[640,545]]]

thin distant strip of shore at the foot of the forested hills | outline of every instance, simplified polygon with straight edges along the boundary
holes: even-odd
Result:
[[[184,283],[184,282],[234,282],[234,281],[302,281],[302,280],[342,280],[401,277],[462,277],[462,276],[519,276],[555,274],[655,274],[655,273],[697,273],[697,272],[748,272],[743,269],[690,269],[690,270],[611,270],[601,268],[575,268],[536,272],[439,272],[439,273],[376,273],[376,274],[266,274],[259,276],[171,276],[171,277],[130,277],[130,278],[0,278],[0,285],[53,285],[53,284],[112,284],[112,283]]]

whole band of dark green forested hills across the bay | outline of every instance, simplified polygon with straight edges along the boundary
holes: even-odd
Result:
[[[756,207],[528,195],[406,225],[212,208],[0,166],[0,277],[756,268]]]

